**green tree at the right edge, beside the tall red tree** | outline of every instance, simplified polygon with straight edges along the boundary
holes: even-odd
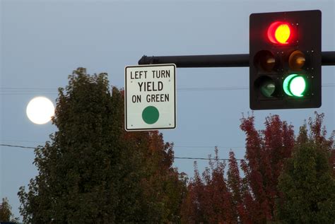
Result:
[[[335,223],[335,179],[331,166],[332,137],[322,129],[324,114],[300,127],[293,156],[286,161],[279,178],[282,196],[277,218],[282,223]]]

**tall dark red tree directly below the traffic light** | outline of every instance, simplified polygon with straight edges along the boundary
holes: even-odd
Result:
[[[242,118],[240,128],[247,136],[246,161],[242,163],[249,188],[245,208],[252,211],[249,221],[265,223],[274,220],[278,177],[283,170],[283,160],[290,157],[294,146],[293,126],[273,115],[266,117],[263,131],[255,129],[254,116]]]

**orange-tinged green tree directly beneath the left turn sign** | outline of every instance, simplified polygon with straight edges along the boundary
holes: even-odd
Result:
[[[158,131],[126,132],[124,138],[141,154],[141,207],[145,223],[178,223],[182,200],[187,191],[187,176],[172,167],[173,144],[164,143]]]

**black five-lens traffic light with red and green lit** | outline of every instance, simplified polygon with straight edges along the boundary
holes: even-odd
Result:
[[[321,11],[253,13],[249,20],[252,110],[321,106]]]

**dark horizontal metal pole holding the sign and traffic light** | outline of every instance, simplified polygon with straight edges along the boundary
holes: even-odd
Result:
[[[216,54],[185,56],[153,56],[144,55],[139,64],[175,64],[179,68],[205,67],[249,67],[249,54]],[[322,52],[322,65],[335,65],[335,52]]]

